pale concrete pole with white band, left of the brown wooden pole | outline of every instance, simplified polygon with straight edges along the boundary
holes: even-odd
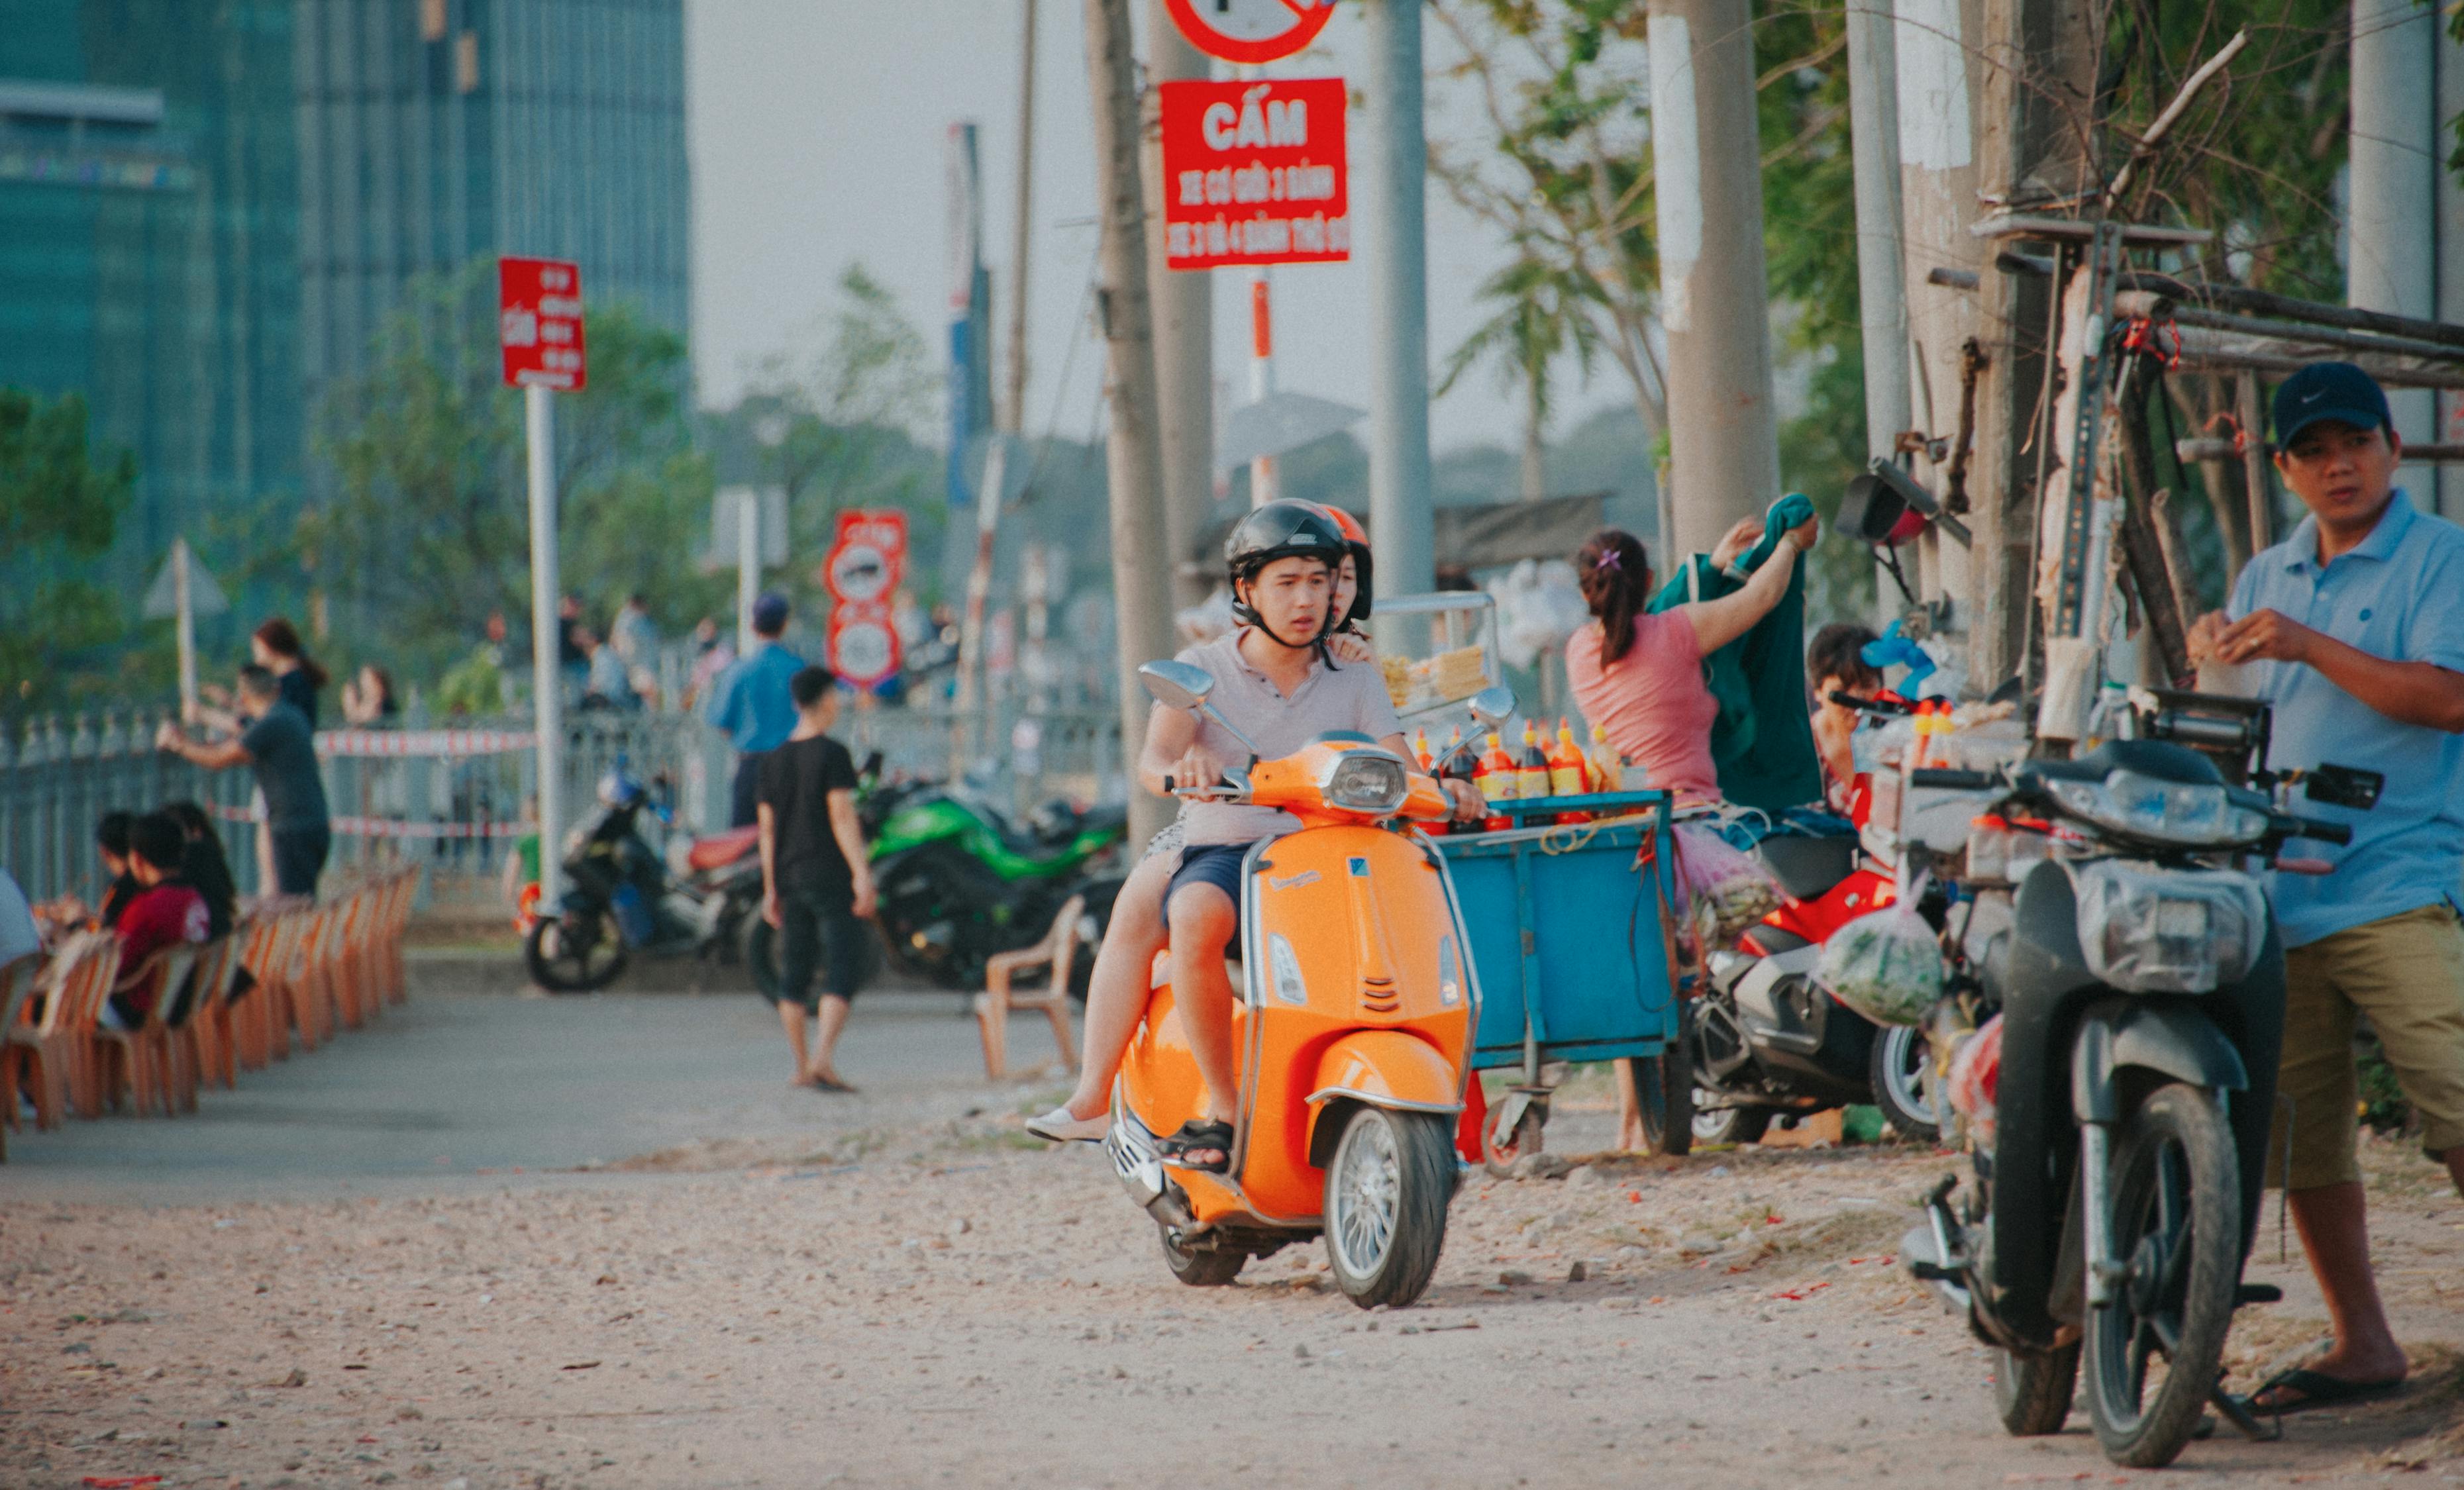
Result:
[[[1892,57],[1900,84],[1900,224],[1907,264],[1910,409],[1915,426],[1937,438],[1959,429],[1959,357],[1976,335],[1971,293],[1932,283],[1934,268],[1974,273],[1984,264],[1969,222],[1976,217],[1976,84],[1971,37],[1979,0],[1897,0]],[[1949,461],[1915,463],[1915,475],[1944,493]],[[1959,544],[1919,539],[1924,598],[1969,601],[1969,564]],[[1966,630],[1969,606],[1951,611],[1951,633]]]

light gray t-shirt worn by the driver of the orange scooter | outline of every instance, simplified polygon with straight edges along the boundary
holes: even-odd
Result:
[[[1185,648],[1178,662],[1195,662],[1215,680],[1207,697],[1225,719],[1239,727],[1262,759],[1276,761],[1301,749],[1311,736],[1328,729],[1358,729],[1370,739],[1402,734],[1395,717],[1395,699],[1387,697],[1385,672],[1375,662],[1328,665],[1311,662],[1301,687],[1284,697],[1264,672],[1239,655],[1242,633]],[[1232,731],[1205,714],[1198,717],[1198,744],[1220,761],[1242,761],[1247,751]],[[1279,808],[1252,808],[1234,803],[1190,803],[1183,810],[1188,842],[1257,842],[1269,832],[1291,832],[1299,818]]]

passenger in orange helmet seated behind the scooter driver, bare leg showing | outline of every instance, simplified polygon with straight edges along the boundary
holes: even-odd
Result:
[[[1370,662],[1377,655],[1363,628],[1375,598],[1370,534],[1343,507],[1321,505],[1318,510],[1343,530],[1343,562],[1335,564],[1335,589],[1326,606],[1326,613],[1340,621],[1326,635],[1326,653],[1338,667]],[[1185,832],[1188,805],[1146,845],[1138,867],[1121,882],[1121,892],[1111,901],[1111,921],[1104,928],[1104,946],[1087,978],[1077,1091],[1062,1106],[1027,1121],[1027,1133],[1057,1143],[1096,1143],[1111,1126],[1111,1079],[1146,1017],[1148,968],[1163,951],[1163,887],[1180,867]]]

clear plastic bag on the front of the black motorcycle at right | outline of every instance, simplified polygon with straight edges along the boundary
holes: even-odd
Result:
[[[2235,869],[2097,860],[2072,872],[2080,951],[2129,993],[2208,993],[2240,983],[2267,941],[2267,894]]]

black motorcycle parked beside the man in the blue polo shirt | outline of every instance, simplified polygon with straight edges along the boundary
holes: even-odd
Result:
[[[1993,791],[2001,818],[2065,850],[2025,869],[2011,933],[1976,968],[2001,1007],[1991,1140],[1971,1148],[1961,1202],[1944,1177],[1900,1251],[1996,1350],[2011,1433],[2060,1431],[2085,1364],[2097,1441],[2139,1468],[2171,1463],[2208,1404],[2259,1436],[2218,1389],[2232,1310],[2277,1298],[2242,1283],[2284,1029],[2284,951],[2255,867],[2324,872],[2282,847],[2351,840],[2279,805],[2292,778],[2262,768],[2264,704],[2232,702],[2257,741],[2252,786],[2232,786],[2173,744],[2218,739],[2215,712],[2183,699],[2134,717],[2158,739],[1915,771],[1915,786]],[[2368,808],[2378,781],[2321,768],[2304,791]]]

